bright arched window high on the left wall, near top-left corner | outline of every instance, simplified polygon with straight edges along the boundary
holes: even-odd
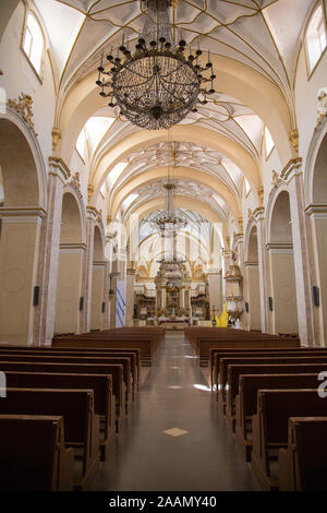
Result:
[[[37,74],[40,75],[45,52],[45,38],[40,24],[31,12],[27,14],[26,19],[23,50]]]

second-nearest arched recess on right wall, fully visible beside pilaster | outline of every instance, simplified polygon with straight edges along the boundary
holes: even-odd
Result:
[[[298,308],[290,196],[282,190],[270,217],[268,252],[271,273],[271,310],[275,333],[298,334]]]

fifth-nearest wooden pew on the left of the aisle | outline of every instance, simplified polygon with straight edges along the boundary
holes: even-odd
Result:
[[[124,387],[124,408],[125,414],[129,411],[129,406],[132,401],[132,389],[131,389],[131,365],[130,359],[126,357],[83,357],[83,356],[66,356],[66,355],[35,355],[33,354],[1,354],[2,361],[31,361],[31,362],[48,362],[48,363],[87,363],[87,365],[121,365],[123,368],[123,381],[125,383]]]

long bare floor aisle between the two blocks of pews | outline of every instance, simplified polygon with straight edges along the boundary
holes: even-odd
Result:
[[[93,489],[258,490],[183,333],[166,332]]]

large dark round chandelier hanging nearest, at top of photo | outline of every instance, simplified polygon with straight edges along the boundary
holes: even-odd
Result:
[[[197,103],[207,104],[207,96],[215,93],[216,76],[209,51],[203,67],[199,47],[193,55],[182,37],[175,44],[168,12],[171,0],[145,1],[146,21],[134,53],[123,38],[117,57],[112,48],[107,56],[111,64],[108,71],[102,55],[96,83],[100,96],[110,98],[109,107],[119,106],[133,124],[147,130],[169,129],[196,111]],[[209,76],[204,76],[205,72]]]

